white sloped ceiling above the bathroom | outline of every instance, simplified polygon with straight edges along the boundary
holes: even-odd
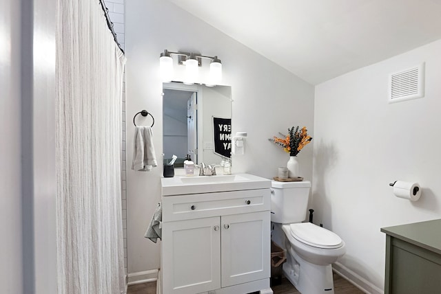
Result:
[[[311,84],[441,38],[441,0],[169,1]]]

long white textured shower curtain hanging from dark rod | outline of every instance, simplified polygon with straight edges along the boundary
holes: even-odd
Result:
[[[58,293],[125,293],[125,56],[99,0],[57,1]]]

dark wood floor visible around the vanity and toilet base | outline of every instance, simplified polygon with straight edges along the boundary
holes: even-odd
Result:
[[[282,284],[272,287],[274,294],[299,294],[294,286],[286,279]],[[362,294],[356,286],[334,273],[334,292],[336,294]],[[156,282],[129,286],[127,294],[156,294]]]

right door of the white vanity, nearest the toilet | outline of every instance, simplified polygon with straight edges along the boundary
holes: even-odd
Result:
[[[269,278],[270,215],[252,212],[222,216],[222,286]]]

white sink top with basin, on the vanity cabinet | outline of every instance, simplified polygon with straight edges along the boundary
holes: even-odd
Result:
[[[163,196],[199,194],[271,187],[271,180],[253,174],[161,178]]]

